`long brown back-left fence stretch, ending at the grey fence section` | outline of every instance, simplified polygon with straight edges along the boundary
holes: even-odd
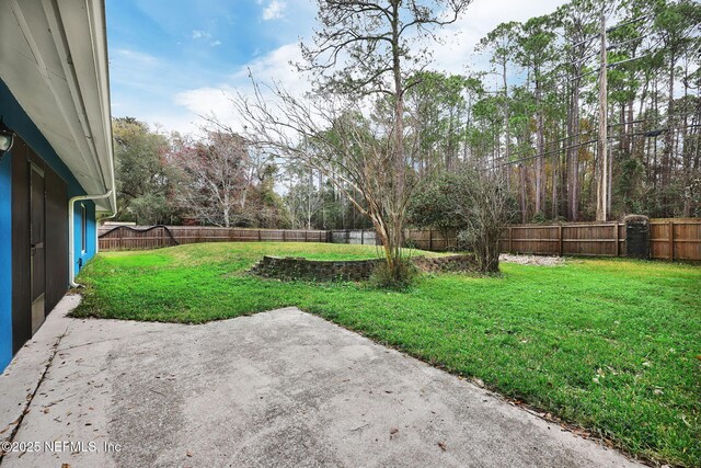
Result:
[[[329,242],[329,231],[204,226],[100,227],[100,250],[156,249],[199,242]]]

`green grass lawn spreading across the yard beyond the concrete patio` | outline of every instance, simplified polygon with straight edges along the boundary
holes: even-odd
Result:
[[[624,260],[424,275],[409,292],[245,274],[263,254],[363,259],[376,249],[215,243],[102,253],[74,312],[205,322],[298,306],[612,440],[701,466],[701,269]]]

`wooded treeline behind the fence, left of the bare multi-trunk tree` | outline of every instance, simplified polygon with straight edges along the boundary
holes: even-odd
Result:
[[[279,165],[239,135],[202,134],[165,134],[133,117],[113,119],[117,220],[291,229],[370,226],[323,178]]]

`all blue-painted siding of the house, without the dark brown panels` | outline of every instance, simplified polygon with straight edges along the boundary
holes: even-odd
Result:
[[[69,198],[85,195],[83,187],[26,115],[2,80],[0,80],[0,116],[8,127],[15,130],[37,156],[67,182]],[[0,372],[12,358],[11,159],[11,153],[5,155],[0,163]],[[88,249],[85,253],[82,253],[80,203],[76,204],[77,216],[74,220],[76,273],[79,272],[79,261],[82,261],[84,265],[95,254],[95,205],[90,201],[82,202],[88,208]],[[68,285],[66,288],[68,289]]]

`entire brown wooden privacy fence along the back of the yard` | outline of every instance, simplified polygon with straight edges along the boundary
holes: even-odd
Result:
[[[154,249],[196,242],[335,242],[377,246],[374,230],[295,230],[217,227],[101,227],[101,250]],[[149,230],[143,230],[149,229]],[[407,229],[406,244],[421,250],[456,250],[456,231]],[[499,240],[502,252],[572,256],[625,256],[625,224],[566,222],[513,225]],[[654,260],[701,261],[701,218],[650,220],[650,256]]]

